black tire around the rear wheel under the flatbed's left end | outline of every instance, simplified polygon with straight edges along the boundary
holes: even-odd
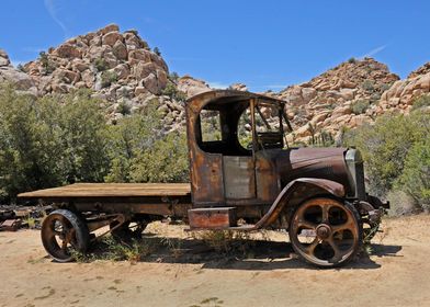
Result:
[[[64,216],[75,228],[76,230],[76,240],[77,240],[77,247],[76,250],[79,252],[86,252],[88,250],[89,243],[90,243],[90,232],[88,230],[87,224],[84,220],[76,215],[75,213],[67,211],[67,209],[56,209],[52,212],[43,221],[42,224],[42,229],[41,229],[41,237],[42,237],[42,243],[46,250],[46,252],[57,262],[70,262],[73,260],[73,257],[70,254],[68,257],[59,258],[58,255],[55,254],[50,250],[50,245],[47,238],[44,236],[44,232],[46,231],[46,228],[49,227],[49,223],[56,215],[61,215]]]

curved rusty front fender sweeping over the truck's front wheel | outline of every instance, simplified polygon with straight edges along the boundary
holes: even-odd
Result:
[[[273,205],[256,224],[254,228],[260,229],[270,226],[278,219],[281,212],[317,194],[331,194],[341,198],[344,196],[344,187],[339,182],[327,179],[296,179],[281,191]]]

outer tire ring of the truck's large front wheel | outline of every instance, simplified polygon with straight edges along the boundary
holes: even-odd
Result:
[[[317,198],[331,198],[331,197],[317,197]],[[308,202],[308,201],[312,201],[312,200],[314,200],[314,198],[306,200],[305,202]],[[336,200],[336,201],[338,201],[338,200]],[[305,203],[305,202],[303,202],[303,203]],[[338,202],[342,204],[341,201],[338,201]],[[303,203],[302,203],[302,204],[303,204]],[[301,205],[302,205],[302,204],[301,204]],[[299,258],[301,258],[303,261],[305,261],[306,263],[309,263],[309,264],[312,264],[312,265],[314,265],[314,266],[317,266],[317,268],[330,269],[330,268],[338,268],[338,266],[342,266],[342,265],[347,264],[348,262],[350,262],[354,257],[357,257],[357,255],[360,253],[360,251],[362,250],[362,246],[363,246],[363,226],[361,225],[361,221],[360,221],[360,220],[361,220],[361,217],[360,217],[359,212],[355,209],[355,207],[354,207],[352,204],[350,204],[350,203],[348,203],[348,202],[343,202],[343,206],[344,206],[347,209],[349,209],[349,211],[352,212],[352,215],[354,216],[355,221],[357,221],[357,225],[358,225],[358,228],[359,228],[359,238],[358,238],[358,243],[357,243],[357,246],[355,246],[355,248],[354,248],[354,251],[353,251],[346,260],[343,260],[343,261],[341,261],[341,262],[338,262],[338,263],[332,263],[332,264],[329,264],[329,265],[320,265],[320,264],[314,263],[314,262],[307,260],[305,257],[303,257],[301,250],[299,250],[298,248],[295,247],[295,245],[293,243],[293,240],[291,239],[291,237],[292,237],[292,228],[290,227],[290,226],[292,225],[292,221],[293,221],[293,218],[294,218],[294,216],[295,216],[295,213],[296,213],[296,211],[298,209],[298,207],[299,207],[301,205],[298,205],[298,206],[294,209],[294,213],[292,214],[292,216],[291,216],[291,218],[290,218],[290,223],[288,223],[288,236],[290,236],[290,242],[291,242],[291,245],[293,246],[293,249],[294,249],[295,253],[298,254]]]

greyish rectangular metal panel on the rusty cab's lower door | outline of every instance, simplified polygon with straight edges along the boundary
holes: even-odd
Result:
[[[256,175],[252,157],[223,157],[224,189],[227,200],[256,197]]]

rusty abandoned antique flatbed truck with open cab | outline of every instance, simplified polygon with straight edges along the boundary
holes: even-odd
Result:
[[[53,204],[42,241],[55,260],[72,260],[109,226],[142,234],[151,220],[190,229],[284,229],[297,254],[318,266],[352,259],[373,237],[387,203],[365,193],[357,149],[292,148],[285,102],[216,90],[185,104],[191,183],[78,183],[22,193]]]

